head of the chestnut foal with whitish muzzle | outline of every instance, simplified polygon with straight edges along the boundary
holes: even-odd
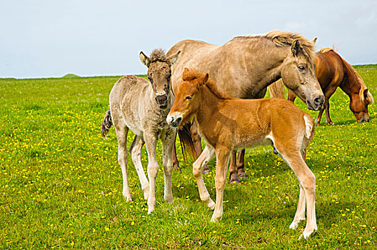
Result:
[[[196,113],[199,107],[196,93],[208,81],[208,73],[203,75],[185,68],[182,79],[183,81],[176,90],[174,104],[166,117],[166,121],[171,126],[186,124]]]

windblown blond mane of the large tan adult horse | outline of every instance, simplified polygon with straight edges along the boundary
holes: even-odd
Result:
[[[301,36],[301,34],[288,32],[288,31],[278,31],[273,30],[269,31],[267,34],[264,35],[249,35],[249,36],[236,36],[235,39],[252,39],[252,38],[264,38],[270,39],[273,41],[276,46],[291,46],[293,41],[298,39],[300,45],[303,48],[304,54],[306,54],[311,61],[314,59],[314,43],[306,39],[305,37]]]

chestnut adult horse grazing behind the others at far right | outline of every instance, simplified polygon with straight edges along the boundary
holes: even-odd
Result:
[[[323,94],[325,94],[325,104],[323,109],[319,111],[316,118],[316,125],[321,122],[323,111],[326,109],[326,123],[334,124],[330,118],[330,97],[340,87],[350,99],[350,109],[358,122],[369,121],[368,105],[373,104],[373,96],[366,88],[363,79],[353,67],[348,64],[336,51],[332,48],[323,48],[316,53],[314,59],[316,64],[316,76]],[[281,81],[281,80],[279,80]],[[276,84],[270,86],[274,93],[281,93],[276,89],[283,89],[283,84],[277,81]],[[288,90],[288,100],[294,101],[296,94]],[[271,96],[284,98],[284,95]]]

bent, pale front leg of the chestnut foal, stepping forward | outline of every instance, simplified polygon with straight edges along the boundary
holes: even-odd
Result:
[[[198,184],[199,196],[201,200],[210,208],[215,208],[215,203],[212,201],[211,196],[208,193],[206,184],[204,184],[201,173],[203,171],[203,166],[205,166],[208,161],[210,161],[213,156],[215,156],[215,149],[209,144],[206,145],[201,155],[193,163],[193,176],[195,176],[196,183]]]

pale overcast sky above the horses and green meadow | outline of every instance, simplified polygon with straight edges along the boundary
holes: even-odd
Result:
[[[0,78],[145,74],[139,52],[273,29],[377,64],[377,1],[1,0]]]

